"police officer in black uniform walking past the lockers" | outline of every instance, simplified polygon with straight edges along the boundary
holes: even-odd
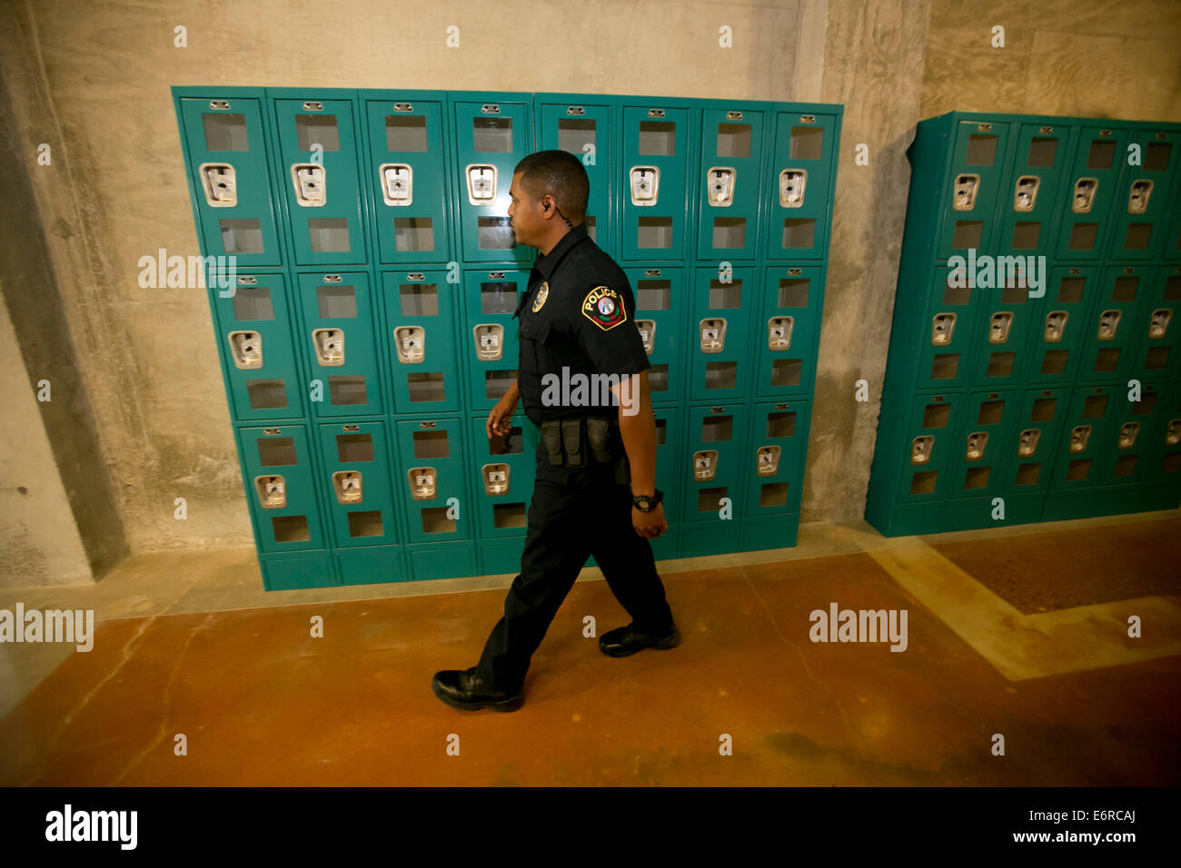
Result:
[[[487,430],[490,439],[505,435],[523,399],[541,442],[521,573],[504,616],[478,665],[437,672],[431,685],[456,709],[521,707],[529,659],[592,554],[632,616],[600,638],[602,653],[680,642],[648,542],[668,529],[655,488],[650,364],[627,276],[587,235],[588,192],[582,162],[567,151],[531,154],[513,175],[508,213],[517,243],[540,255],[514,314],[517,380]]]

